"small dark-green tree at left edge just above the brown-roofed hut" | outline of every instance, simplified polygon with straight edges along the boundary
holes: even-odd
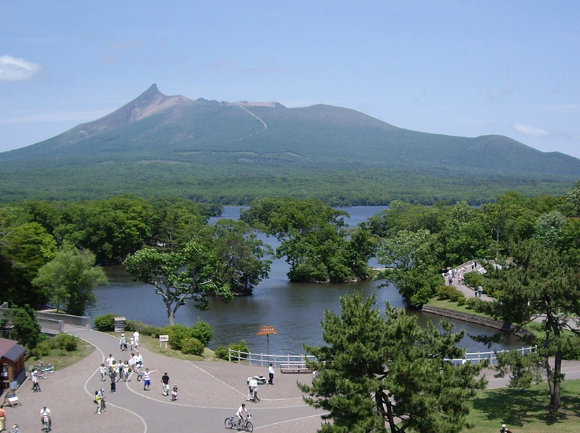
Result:
[[[0,319],[0,331],[4,338],[16,340],[30,350],[37,347],[41,339],[36,313],[28,305],[8,308]]]

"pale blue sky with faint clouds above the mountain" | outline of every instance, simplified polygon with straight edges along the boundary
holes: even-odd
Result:
[[[580,1],[6,0],[0,17],[0,151],[156,83],[580,157]]]

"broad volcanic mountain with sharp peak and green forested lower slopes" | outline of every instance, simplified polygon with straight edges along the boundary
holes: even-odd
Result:
[[[349,192],[356,196],[369,195],[365,188],[389,179],[416,183],[433,176],[464,185],[475,179],[482,190],[498,179],[510,187],[556,182],[564,188],[580,178],[580,160],[501,135],[465,138],[409,131],[330,105],[191,100],[164,95],[153,84],[101,119],[0,153],[0,198],[122,192],[196,196],[188,189],[211,189],[231,179],[238,189],[246,185],[240,201],[247,201],[268,189],[256,180],[297,187],[307,179],[309,187],[299,193],[307,196],[312,185],[321,188],[328,173],[336,179],[345,173],[365,178],[361,191]],[[347,183],[356,189],[355,182]],[[221,199],[232,199],[226,196]],[[211,198],[220,199],[219,194]]]

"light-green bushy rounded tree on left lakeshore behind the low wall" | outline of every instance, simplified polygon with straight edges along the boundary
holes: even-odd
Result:
[[[61,246],[53,260],[41,267],[32,280],[57,309],[77,316],[94,305],[94,288],[106,282],[103,269],[95,266],[95,255],[70,244]]]

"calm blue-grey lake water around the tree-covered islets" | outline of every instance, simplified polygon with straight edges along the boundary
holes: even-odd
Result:
[[[350,214],[345,220],[351,226],[356,226],[370,216],[385,209],[382,206],[360,206],[356,208],[340,208]],[[240,207],[228,207],[222,218],[239,217]],[[217,218],[212,218],[214,222]],[[276,239],[260,235],[274,248],[278,246]],[[375,265],[375,260],[371,265]],[[302,354],[302,345],[322,345],[321,320],[324,310],[332,309],[340,312],[340,296],[355,291],[364,295],[376,293],[378,305],[384,309],[386,301],[397,307],[404,307],[403,300],[394,286],[380,287],[380,281],[362,281],[349,284],[301,284],[290,283],[286,273],[288,264],[284,260],[274,260],[269,279],[261,281],[254,294],[240,296],[227,304],[220,300],[210,300],[210,307],[205,312],[195,309],[191,303],[183,305],[176,312],[176,323],[192,325],[198,319],[207,321],[214,329],[214,338],[210,347],[227,345],[230,342],[246,340],[252,352],[266,353],[266,337],[257,336],[260,326],[274,326],[277,335],[270,335],[271,354]],[[105,313],[119,314],[127,319],[141,320],[154,326],[168,324],[167,312],[160,295],[155,294],[153,286],[134,282],[131,276],[124,272],[121,266],[106,267],[109,277],[108,286],[96,288],[98,298],[96,307],[91,312],[93,317]],[[424,323],[432,319],[436,323],[440,318],[431,314],[417,314]],[[465,329],[470,334],[491,335],[493,330],[484,326],[469,324],[463,321],[452,321],[456,331]],[[461,342],[468,352],[486,352],[484,345],[474,342],[467,335]],[[516,340],[507,340],[503,344],[494,345],[493,349],[508,349],[517,346]]]

